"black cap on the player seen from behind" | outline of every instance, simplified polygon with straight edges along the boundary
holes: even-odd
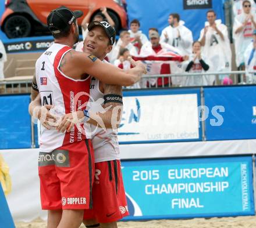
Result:
[[[58,34],[61,31],[68,30],[73,23],[74,19],[83,16],[81,10],[72,11],[66,6],[61,6],[51,11],[47,17],[47,25],[49,30]]]

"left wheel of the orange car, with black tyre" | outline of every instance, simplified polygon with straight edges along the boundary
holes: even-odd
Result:
[[[8,38],[28,37],[31,24],[26,17],[13,15],[6,20],[4,31]]]

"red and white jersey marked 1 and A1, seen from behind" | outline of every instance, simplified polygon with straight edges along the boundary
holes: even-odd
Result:
[[[90,77],[73,79],[59,69],[63,56],[73,50],[69,46],[53,44],[38,58],[35,63],[35,77],[41,96],[42,105],[52,104],[54,114],[58,116],[81,110],[89,100]],[[69,143],[79,142],[86,138],[88,125],[75,125],[71,132],[62,133],[56,129],[42,127],[40,151],[51,152]],[[85,129],[85,130],[84,130]]]

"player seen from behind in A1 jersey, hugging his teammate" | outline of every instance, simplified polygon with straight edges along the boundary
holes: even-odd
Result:
[[[91,54],[74,51],[72,46],[79,38],[76,19],[81,15],[80,11],[72,12],[63,6],[52,10],[47,23],[55,42],[35,64],[33,88],[40,92],[42,104],[58,107],[57,115],[80,109],[79,105],[74,106],[73,99],[79,92],[90,92],[89,75],[108,84],[131,85],[145,71],[140,62],[130,71],[123,71]],[[79,99],[84,104],[89,97],[83,95]],[[48,210],[48,228],[79,227],[84,209],[93,205],[93,148],[89,136],[81,131],[77,126],[71,132],[42,128],[38,172],[42,209]]]

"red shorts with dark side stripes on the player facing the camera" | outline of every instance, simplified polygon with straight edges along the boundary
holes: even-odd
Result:
[[[84,220],[116,222],[129,215],[120,160],[95,163],[93,209],[84,211]]]

